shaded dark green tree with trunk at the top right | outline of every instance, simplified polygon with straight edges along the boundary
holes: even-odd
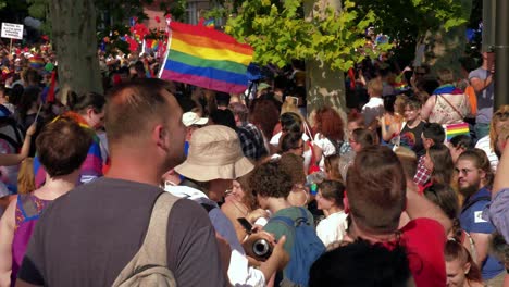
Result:
[[[400,62],[410,63],[415,49],[426,45],[425,62],[459,68],[463,54],[464,28],[472,0],[355,0],[360,13],[374,11],[373,25],[398,42]]]

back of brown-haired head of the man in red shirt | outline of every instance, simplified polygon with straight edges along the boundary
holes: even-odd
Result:
[[[347,208],[356,226],[372,234],[394,233],[406,204],[405,173],[396,154],[387,147],[367,147],[346,178]]]

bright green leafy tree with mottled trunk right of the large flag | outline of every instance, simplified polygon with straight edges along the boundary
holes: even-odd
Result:
[[[234,5],[233,5],[234,7]],[[250,0],[237,9],[225,32],[254,48],[254,61],[283,67],[307,61],[308,112],[327,104],[345,109],[343,72],[359,61],[372,12],[360,15],[352,1]]]

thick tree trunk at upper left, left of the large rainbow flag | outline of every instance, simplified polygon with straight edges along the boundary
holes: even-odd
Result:
[[[94,0],[51,0],[52,37],[58,54],[60,98],[69,90],[103,92],[97,58]]]

